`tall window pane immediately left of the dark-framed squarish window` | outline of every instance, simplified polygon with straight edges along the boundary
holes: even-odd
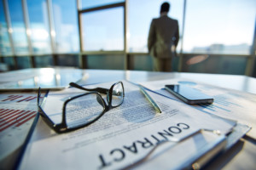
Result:
[[[79,52],[77,4],[73,0],[52,0],[57,53]]]

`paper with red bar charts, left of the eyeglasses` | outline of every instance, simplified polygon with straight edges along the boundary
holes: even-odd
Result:
[[[0,94],[1,165],[23,144],[37,111],[37,94]]]

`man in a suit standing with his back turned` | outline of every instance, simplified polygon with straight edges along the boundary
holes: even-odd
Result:
[[[151,21],[148,33],[148,52],[154,59],[154,71],[172,71],[179,40],[178,23],[167,16],[170,4],[162,3],[160,18]]]

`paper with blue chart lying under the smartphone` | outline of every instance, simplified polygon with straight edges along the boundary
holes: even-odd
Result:
[[[191,105],[199,111],[207,114],[221,116],[227,119],[235,120],[239,123],[245,124],[252,129],[247,135],[256,139],[256,95],[240,92],[237,90],[218,88],[209,84],[200,82],[191,82],[183,79],[170,79],[163,81],[141,82],[141,84],[158,94],[162,94],[170,99],[177,99],[174,95],[166,91],[166,84],[186,84],[191,88],[195,88],[204,94],[213,97],[212,105]]]

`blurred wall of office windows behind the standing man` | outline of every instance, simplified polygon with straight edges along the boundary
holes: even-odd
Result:
[[[153,71],[155,0],[1,0],[0,71],[74,67]],[[171,0],[173,71],[256,77],[256,1]]]

